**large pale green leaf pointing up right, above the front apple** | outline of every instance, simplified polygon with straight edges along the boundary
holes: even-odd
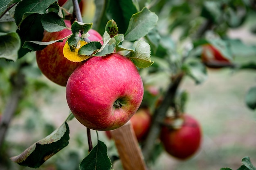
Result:
[[[158,16],[144,7],[140,12],[132,15],[128,29],[124,34],[125,40],[135,41],[144,37],[155,27],[157,20]]]

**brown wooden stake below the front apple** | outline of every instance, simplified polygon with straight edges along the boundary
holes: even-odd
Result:
[[[130,121],[110,133],[115,141],[124,170],[146,170],[146,164]]]

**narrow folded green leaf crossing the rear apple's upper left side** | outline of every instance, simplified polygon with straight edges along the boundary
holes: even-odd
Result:
[[[43,50],[46,46],[50,44],[54,44],[56,42],[63,42],[63,39],[57,39],[53,41],[48,42],[42,42],[42,41],[25,41],[23,48],[28,48],[31,51],[37,51],[37,50]]]

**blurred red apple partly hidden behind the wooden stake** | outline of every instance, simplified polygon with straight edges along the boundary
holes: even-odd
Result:
[[[139,142],[143,141],[146,137],[150,123],[151,123],[151,115],[149,108],[140,107],[138,111],[132,116],[130,119],[132,124],[132,128],[135,132],[136,138]],[[108,139],[111,139],[110,131],[106,131],[106,135]]]

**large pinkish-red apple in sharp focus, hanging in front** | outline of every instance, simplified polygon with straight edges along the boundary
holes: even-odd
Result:
[[[136,66],[117,53],[86,60],[71,74],[66,87],[67,104],[76,119],[90,129],[102,131],[128,122],[143,94]]]

